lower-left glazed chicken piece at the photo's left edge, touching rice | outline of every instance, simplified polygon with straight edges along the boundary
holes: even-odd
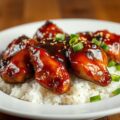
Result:
[[[0,74],[2,79],[8,83],[22,83],[32,76],[29,53],[23,49],[10,60],[2,59]]]

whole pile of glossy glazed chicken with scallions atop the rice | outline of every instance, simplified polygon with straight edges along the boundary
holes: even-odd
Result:
[[[7,46],[0,75],[11,84],[35,78],[44,88],[63,94],[71,87],[69,69],[79,78],[107,86],[109,59],[120,64],[120,35],[106,30],[67,34],[47,21],[32,39],[20,36]]]

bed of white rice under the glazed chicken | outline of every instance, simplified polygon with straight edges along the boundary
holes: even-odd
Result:
[[[108,68],[110,73],[120,75],[115,67]],[[73,78],[71,89],[63,94],[56,95],[43,88],[35,80],[26,81],[19,85],[5,83],[0,78],[0,90],[18,99],[39,104],[82,104],[90,102],[90,97],[100,95],[102,99],[112,96],[112,91],[120,87],[119,82],[111,82],[107,87],[101,87],[94,83]]]

